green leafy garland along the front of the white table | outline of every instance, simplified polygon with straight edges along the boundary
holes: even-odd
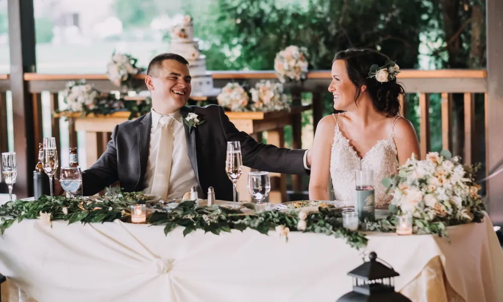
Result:
[[[112,222],[115,219],[130,222],[129,206],[148,202],[141,192],[124,193],[115,189],[108,189],[108,191],[109,196],[102,198],[102,201],[82,197],[76,199],[62,196],[51,198],[45,195],[35,201],[9,201],[0,206],[0,216],[2,216],[0,232],[4,234],[14,221],[21,222],[23,219],[47,219],[48,223],[55,220],[66,220],[68,223],[77,221],[84,224],[103,223]],[[253,205],[246,204],[244,206],[252,207]],[[244,213],[241,209],[218,205],[200,206],[195,201],[189,200],[169,211],[154,211],[147,216],[146,223],[164,225],[166,235],[177,226],[183,226],[185,228],[184,236],[198,229],[216,235],[220,232],[230,232],[233,229],[239,231],[252,229],[267,235],[270,230],[274,230],[278,226],[288,228],[291,231],[299,231],[297,225],[301,218],[299,218],[298,211],[273,210],[251,215]],[[343,238],[356,249],[367,245],[367,238],[362,233],[343,228],[342,214],[338,210],[319,207],[319,212],[307,214],[305,221],[306,228],[303,231],[305,233],[320,233]]]

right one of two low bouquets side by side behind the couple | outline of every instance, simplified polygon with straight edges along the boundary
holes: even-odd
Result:
[[[279,111],[290,109],[287,97],[283,94],[283,84],[262,80],[250,89],[251,111]]]

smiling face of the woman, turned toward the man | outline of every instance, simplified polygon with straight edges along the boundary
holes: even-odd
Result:
[[[355,104],[356,88],[349,79],[345,60],[336,60],[332,64],[332,82],[328,91],[333,95],[333,108],[349,111]]]

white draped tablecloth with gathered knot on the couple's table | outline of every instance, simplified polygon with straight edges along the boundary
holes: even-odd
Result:
[[[109,222],[52,228],[14,223],[0,236],[0,272],[39,302],[334,301],[351,291],[361,253],[343,240],[253,230],[164,236],[162,226]],[[503,301],[503,252],[487,218],[436,236],[372,234],[367,252],[400,273],[401,290],[440,257],[465,301]],[[499,285],[499,286],[496,286]],[[418,299],[417,299],[418,300]]]

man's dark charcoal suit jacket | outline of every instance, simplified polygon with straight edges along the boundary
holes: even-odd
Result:
[[[206,198],[208,187],[215,190],[216,199],[232,200],[232,183],[225,172],[227,141],[241,143],[243,165],[253,169],[285,174],[306,174],[305,150],[278,148],[258,143],[253,137],[236,129],[218,105],[183,107],[181,113],[198,115],[205,122],[198,127],[185,126],[187,150],[196,180],[198,195]],[[98,162],[82,173],[83,195],[90,196],[116,181],[127,192],[142,191],[145,186],[152,116],[115,126],[112,140]],[[171,155],[166,155],[171,156]]]

